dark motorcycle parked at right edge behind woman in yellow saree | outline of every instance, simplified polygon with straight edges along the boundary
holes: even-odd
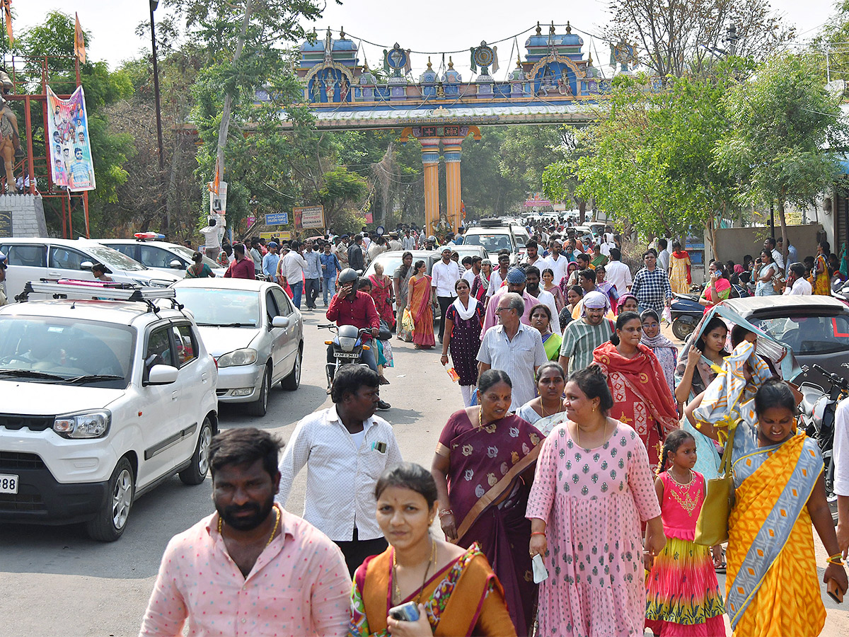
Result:
[[[849,363],[841,364],[841,367],[849,368]],[[829,381],[829,391],[825,392],[823,387],[811,382],[803,382],[799,386],[802,394],[801,427],[808,436],[817,441],[820,453],[823,454],[823,476],[825,480],[825,493],[835,509],[835,466],[832,462],[832,453],[835,443],[835,410],[837,403],[849,397],[849,381],[840,375],[832,374],[819,365],[812,365],[820,374]]]

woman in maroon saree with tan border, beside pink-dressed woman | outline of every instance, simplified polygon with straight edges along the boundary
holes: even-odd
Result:
[[[516,633],[530,634],[537,584],[526,550],[531,524],[528,493],[543,434],[509,413],[512,383],[500,370],[478,380],[480,406],[451,415],[436,445],[431,473],[446,538],[477,542],[503,584]]]

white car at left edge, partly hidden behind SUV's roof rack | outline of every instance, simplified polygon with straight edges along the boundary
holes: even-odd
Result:
[[[90,239],[3,238],[0,252],[6,255],[6,296],[9,301],[24,290],[27,281],[38,279],[91,279],[92,266],[103,263],[109,276],[121,283],[166,287],[183,279],[181,274],[145,268],[121,252]],[[35,295],[31,298],[45,298]]]

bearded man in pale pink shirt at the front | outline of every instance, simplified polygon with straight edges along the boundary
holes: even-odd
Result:
[[[232,429],[209,448],[216,513],[171,538],[142,635],[343,635],[345,558],[309,522],[274,504],[281,444]]]

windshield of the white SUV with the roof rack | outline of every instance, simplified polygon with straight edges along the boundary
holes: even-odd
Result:
[[[6,316],[0,321],[0,380],[123,388],[134,331],[123,325]]]

